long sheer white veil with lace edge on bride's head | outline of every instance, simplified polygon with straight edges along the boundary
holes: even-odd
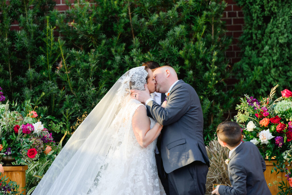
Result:
[[[117,147],[114,137],[124,123],[119,111],[131,100],[130,89],[145,90],[147,75],[140,66],[119,78],[67,141],[32,194],[88,193],[109,150]]]

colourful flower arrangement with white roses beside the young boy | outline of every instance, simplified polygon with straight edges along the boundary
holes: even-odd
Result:
[[[284,162],[288,162],[288,166],[292,164],[292,92],[285,89],[281,91],[282,96],[273,101],[278,86],[272,88],[268,97],[256,99],[245,95],[236,107],[238,112],[234,119],[242,128],[243,141],[258,146],[262,156],[269,161],[277,159],[275,170],[286,172],[287,180],[291,181],[290,186],[287,186],[288,182],[280,182],[279,187],[292,192],[292,169],[282,168]]]

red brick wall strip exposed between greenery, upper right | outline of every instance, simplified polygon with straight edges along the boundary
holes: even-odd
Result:
[[[241,8],[238,7],[234,0],[225,0],[227,7],[224,10],[223,17],[221,20],[225,21],[227,28],[227,35],[232,36],[232,44],[229,49],[225,52],[226,57],[229,59],[230,64],[240,61],[240,49],[237,46],[238,38],[242,34],[242,27],[244,25],[244,16]]]

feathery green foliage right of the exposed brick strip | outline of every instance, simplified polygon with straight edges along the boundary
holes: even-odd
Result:
[[[244,12],[240,37],[241,61],[236,66],[244,93],[267,94],[273,86],[280,91],[292,82],[292,2],[237,0]],[[279,93],[278,93],[279,94]]]

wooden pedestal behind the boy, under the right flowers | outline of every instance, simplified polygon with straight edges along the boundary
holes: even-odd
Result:
[[[271,170],[274,168],[273,162],[275,164],[277,164],[277,161],[273,161],[273,160],[272,161],[265,161],[265,163],[266,163],[266,171],[264,172],[264,176],[265,176],[266,182],[268,184],[268,187],[269,187],[272,195],[276,195],[279,192],[278,185],[269,186],[269,183],[273,184],[274,181],[280,182],[281,180],[286,180],[286,177],[285,177],[286,173],[285,172],[282,172],[282,173],[280,172],[278,175],[276,175],[277,172],[274,171],[271,174]],[[288,163],[285,163],[285,165],[288,165]],[[286,166],[286,168],[288,168],[288,167]],[[278,177],[281,177],[281,178],[278,178]],[[286,180],[286,182],[287,181],[288,180]]]

